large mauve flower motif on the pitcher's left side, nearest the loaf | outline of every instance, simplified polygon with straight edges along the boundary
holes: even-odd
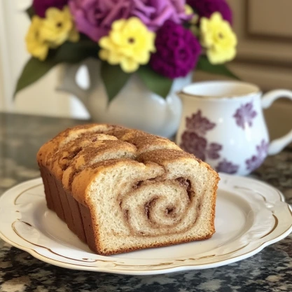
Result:
[[[186,118],[186,130],[181,135],[181,148],[188,153],[192,153],[201,160],[220,158],[219,151],[223,146],[218,143],[210,143],[204,135],[214,129],[216,123],[202,116],[202,111],[193,113]]]

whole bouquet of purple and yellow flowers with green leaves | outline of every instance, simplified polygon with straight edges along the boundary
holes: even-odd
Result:
[[[236,78],[224,64],[237,46],[225,0],[34,0],[27,13],[32,57],[15,94],[55,65],[88,57],[102,62],[109,102],[131,74],[164,98],[194,69]]]

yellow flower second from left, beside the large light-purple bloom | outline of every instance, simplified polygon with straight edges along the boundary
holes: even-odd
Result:
[[[79,34],[67,6],[63,10],[48,8],[41,28],[41,37],[50,43],[51,48],[56,48],[67,40],[72,42],[79,40]]]

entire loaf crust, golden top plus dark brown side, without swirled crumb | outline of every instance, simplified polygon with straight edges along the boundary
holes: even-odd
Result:
[[[48,207],[56,211],[79,238],[101,255],[208,239],[215,232],[218,174],[207,163],[182,151],[168,139],[115,125],[81,125],[61,132],[44,144],[37,154],[37,161],[45,185]],[[150,183],[153,183],[153,179],[164,181],[173,164],[188,165],[190,162],[197,169],[207,172],[213,182],[209,198],[211,208],[207,234],[188,237],[182,235],[179,239],[161,239],[160,242],[151,244],[145,244],[141,239],[140,243],[133,246],[106,249],[101,233],[102,226],[95,216],[96,206],[91,195],[95,181],[104,174],[123,167],[139,169],[141,173],[147,172],[146,179],[151,178],[150,169],[155,169],[155,176]],[[60,189],[62,187],[63,190]],[[74,212],[78,213],[78,218],[74,216]]]

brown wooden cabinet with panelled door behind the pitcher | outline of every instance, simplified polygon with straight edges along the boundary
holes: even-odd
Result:
[[[237,57],[228,64],[243,81],[263,91],[292,90],[292,0],[227,0],[238,38]],[[222,79],[196,73],[195,80]],[[271,138],[292,128],[292,102],[279,99],[265,110]]]

